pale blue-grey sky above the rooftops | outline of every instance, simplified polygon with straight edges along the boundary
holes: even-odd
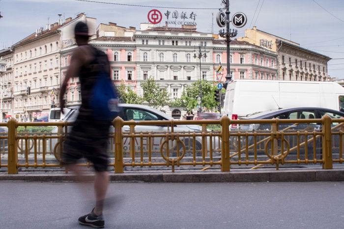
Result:
[[[39,27],[62,18],[84,12],[97,19],[97,24],[108,22],[120,26],[148,23],[147,14],[158,9],[163,15],[167,10],[196,14],[195,22],[200,32],[218,33],[216,23],[221,0],[92,0],[119,4],[136,4],[152,7],[104,4],[79,0],[0,0],[0,49],[10,47],[29,36]],[[344,78],[344,0],[229,0],[230,15],[243,12],[247,24],[238,28],[237,37],[245,35],[245,29],[257,26],[259,30],[291,40],[301,47],[332,58],[328,62],[331,77]],[[168,7],[168,8],[161,8]],[[193,8],[193,9],[177,9]],[[196,9],[215,8],[215,9]],[[213,16],[212,16],[213,13]],[[189,20],[189,19],[186,19]],[[213,22],[213,23],[212,23]],[[163,23],[161,25],[164,25]]]

